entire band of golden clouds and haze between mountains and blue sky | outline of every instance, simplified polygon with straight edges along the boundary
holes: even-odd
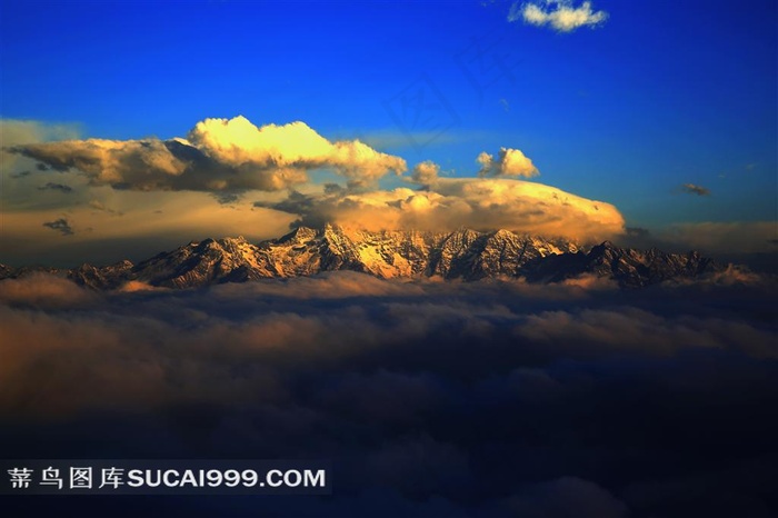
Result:
[[[206,119],[187,139],[166,141],[72,140],[78,132],[71,126],[0,122],[3,143],[18,151],[3,151],[1,260],[17,266],[39,263],[41,257],[57,258],[57,266],[141,259],[208,237],[242,235],[256,242],[283,235],[290,223],[505,228],[585,242],[625,232],[625,219],[612,205],[523,181],[538,169],[518,149],[481,153],[480,178],[441,178],[440,166],[426,160],[405,177],[420,187],[381,190],[377,180],[403,171],[402,159],[358,140],[331,142],[302,122],[258,128],[245,118]],[[62,137],[71,140],[48,141]],[[342,185],[309,181],[308,171],[317,168],[339,172]],[[296,190],[273,191],[281,186]],[[681,189],[709,195],[698,185]],[[121,226],[114,223],[118,217]],[[655,242],[632,238],[644,248],[700,249],[715,257],[732,250],[775,252],[778,232],[767,221],[678,223],[652,229]]]

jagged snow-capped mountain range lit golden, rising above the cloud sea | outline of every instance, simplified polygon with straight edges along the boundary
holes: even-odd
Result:
[[[642,287],[722,271],[724,265],[697,252],[666,253],[657,249],[622,249],[606,241],[587,249],[565,239],[527,236],[509,230],[453,232],[416,230],[346,230],[326,225],[300,227],[258,245],[242,237],[206,239],[132,265],[82,265],[67,276],[96,289],[141,281],[169,288],[194,288],[220,282],[312,276],[351,270],[380,278],[478,280],[522,277],[530,282],[559,282],[582,275],[611,278],[622,287]],[[22,277],[34,269],[0,265],[0,278]]]

